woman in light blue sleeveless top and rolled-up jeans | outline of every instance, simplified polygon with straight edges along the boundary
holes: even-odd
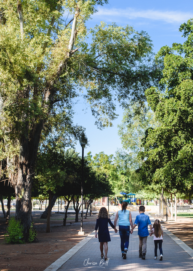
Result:
[[[131,213],[127,210],[127,202],[123,201],[121,204],[122,210],[116,213],[114,225],[119,218],[119,235],[121,237],[121,252],[123,259],[127,258],[127,251],[129,246],[130,226],[133,227]]]

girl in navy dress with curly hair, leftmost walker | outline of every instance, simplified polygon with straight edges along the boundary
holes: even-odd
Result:
[[[104,257],[104,260],[107,260],[107,251],[108,251],[108,242],[110,242],[110,234],[108,229],[108,223],[117,233],[116,227],[110,220],[108,216],[107,209],[102,207],[98,213],[96,226],[95,226],[95,237],[97,238],[97,230],[98,230],[98,241],[100,242],[100,250],[101,250],[101,258]],[[104,253],[103,253],[104,248]]]

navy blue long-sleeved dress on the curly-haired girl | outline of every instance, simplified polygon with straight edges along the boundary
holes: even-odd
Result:
[[[108,229],[108,223],[114,229],[115,226],[110,221],[110,218],[98,218],[95,226],[95,230],[98,230],[99,242],[110,242],[110,234]]]

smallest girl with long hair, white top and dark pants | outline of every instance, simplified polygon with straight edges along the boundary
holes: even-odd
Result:
[[[154,244],[155,244],[155,257],[154,259],[157,259],[158,254],[157,254],[157,250],[158,250],[158,245],[159,245],[159,252],[160,252],[160,261],[162,261],[163,259],[163,251],[162,251],[162,243],[163,243],[163,228],[160,224],[160,221],[158,219],[155,220],[154,224],[153,224],[153,228],[152,228],[152,232],[149,234],[150,236],[152,236],[152,234],[154,233]]]

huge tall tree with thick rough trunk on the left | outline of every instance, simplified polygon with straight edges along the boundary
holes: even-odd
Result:
[[[112,124],[115,100],[143,100],[157,82],[152,44],[130,26],[90,31],[85,23],[95,5],[107,0],[2,0],[0,21],[1,160],[16,191],[16,219],[28,238],[32,223],[31,191],[40,140],[71,144],[81,127],[72,122],[73,99],[84,95],[99,127]],[[71,17],[66,14],[72,14]],[[126,102],[127,103],[127,102]],[[82,132],[82,131],[81,131]]]

